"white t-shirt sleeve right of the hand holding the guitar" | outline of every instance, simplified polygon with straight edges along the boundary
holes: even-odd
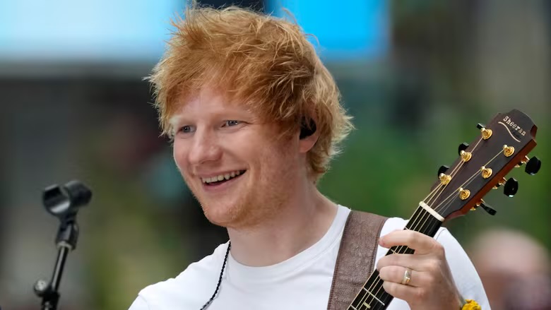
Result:
[[[489,310],[490,302],[488,302],[482,281],[461,244],[446,228],[441,228],[434,238],[444,246],[451,274],[454,276],[456,286],[463,298],[474,299],[480,304],[482,310]]]

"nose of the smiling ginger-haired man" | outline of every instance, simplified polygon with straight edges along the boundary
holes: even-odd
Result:
[[[190,145],[188,160],[191,165],[220,160],[222,151],[215,134],[208,131],[197,131]]]

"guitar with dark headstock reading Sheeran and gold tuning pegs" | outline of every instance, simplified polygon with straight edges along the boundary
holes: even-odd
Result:
[[[440,167],[438,180],[420,201],[405,229],[434,237],[442,222],[469,210],[482,207],[494,215],[495,210],[482,200],[487,192],[503,185],[506,196],[512,197],[519,185],[514,178],[504,179],[511,169],[526,164],[528,174],[538,172],[541,166],[538,157],[526,157],[536,145],[537,130],[526,114],[516,109],[497,114],[487,126],[478,124],[478,129],[480,136],[475,141],[459,145],[459,157],[454,164]],[[407,246],[393,246],[386,255],[413,252]],[[382,310],[392,299],[375,270],[348,310]]]

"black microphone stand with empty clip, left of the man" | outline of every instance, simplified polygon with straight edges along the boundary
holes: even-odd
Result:
[[[59,302],[59,285],[69,252],[76,249],[78,241],[78,209],[87,205],[92,192],[78,181],[70,181],[64,186],[49,186],[45,189],[42,200],[46,210],[59,218],[59,229],[56,236],[57,261],[52,280],[38,280],[33,287],[35,294],[42,297],[42,310],[57,310]]]

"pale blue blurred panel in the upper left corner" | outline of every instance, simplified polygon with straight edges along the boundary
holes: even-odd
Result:
[[[155,60],[184,3],[0,0],[0,60]]]

